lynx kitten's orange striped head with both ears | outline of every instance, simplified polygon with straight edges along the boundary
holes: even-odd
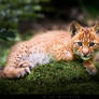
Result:
[[[73,53],[83,60],[90,59],[99,48],[99,24],[93,27],[83,27],[77,22],[70,26]]]

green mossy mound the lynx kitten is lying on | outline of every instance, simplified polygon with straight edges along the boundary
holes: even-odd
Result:
[[[0,94],[98,95],[99,76],[90,76],[80,61],[55,61],[33,68],[23,79],[0,80]]]

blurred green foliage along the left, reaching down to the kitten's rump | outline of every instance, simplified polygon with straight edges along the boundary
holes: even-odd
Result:
[[[5,65],[10,47],[22,40],[18,34],[19,23],[44,18],[43,12],[52,12],[52,6],[48,5],[51,1],[0,0],[0,66]]]

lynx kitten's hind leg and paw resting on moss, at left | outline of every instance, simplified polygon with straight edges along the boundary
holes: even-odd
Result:
[[[6,66],[3,69],[2,77],[9,77],[9,79],[23,77],[26,74],[30,73],[30,69],[32,68],[32,66],[29,62],[22,61],[19,65],[20,65],[19,67]]]

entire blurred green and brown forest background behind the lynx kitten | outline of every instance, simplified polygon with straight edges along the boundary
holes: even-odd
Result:
[[[34,33],[67,29],[72,20],[90,26],[99,19],[99,0],[0,0],[0,66],[10,47]]]

